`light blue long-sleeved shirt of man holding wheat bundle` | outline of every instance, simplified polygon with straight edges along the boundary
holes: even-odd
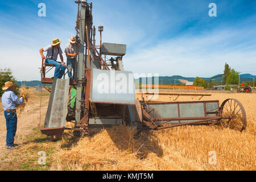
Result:
[[[3,110],[16,109],[15,105],[22,104],[24,98],[18,98],[11,90],[6,90],[2,95]]]

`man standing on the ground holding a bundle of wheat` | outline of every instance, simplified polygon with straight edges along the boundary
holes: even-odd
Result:
[[[11,81],[5,82],[5,85],[3,86],[3,90],[5,90],[5,93],[2,95],[2,105],[3,110],[5,113],[6,118],[6,149],[7,150],[14,150],[17,149],[17,145],[14,144],[14,137],[16,134],[17,129],[17,115],[16,115],[16,105],[22,104],[24,101],[25,96],[22,95],[22,97],[18,98],[14,93],[14,86],[16,84],[13,84]]]

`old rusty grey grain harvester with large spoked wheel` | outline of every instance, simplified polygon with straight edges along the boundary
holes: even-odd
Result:
[[[223,127],[239,131],[245,129],[245,109],[232,98],[221,105],[219,101],[156,102],[135,99],[133,73],[124,71],[122,64],[126,45],[100,41],[100,46],[96,46],[92,3],[85,0],[75,2],[78,5],[75,29],[79,44],[76,78],[47,78],[46,73],[53,65],[42,60],[42,84],[52,84],[44,127],[39,126],[43,134],[54,139],[64,130],[74,130],[75,135],[81,135],[96,133],[113,125],[133,125],[138,132],[198,123],[220,123]],[[100,33],[102,30],[102,26],[98,27]],[[106,55],[114,58],[106,60]],[[116,85],[121,85],[120,92]],[[74,128],[65,127],[66,122],[74,121]]]

